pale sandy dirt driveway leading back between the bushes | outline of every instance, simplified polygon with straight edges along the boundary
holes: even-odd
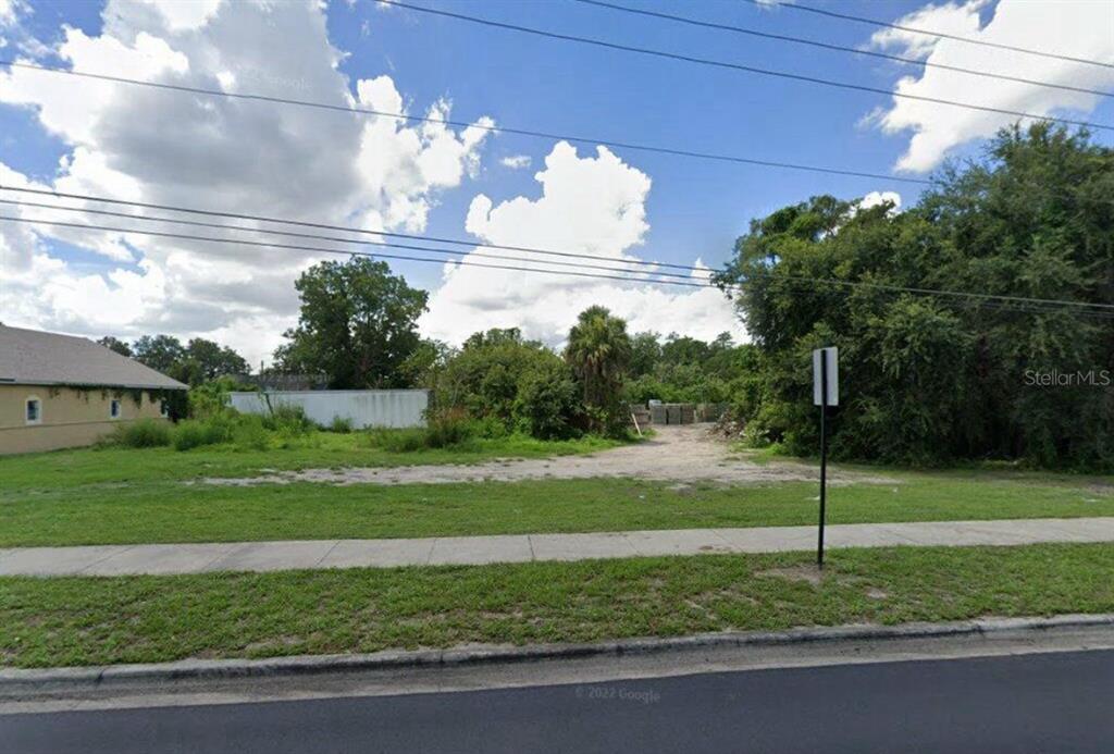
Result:
[[[496,460],[473,466],[407,466],[392,469],[306,469],[282,471],[250,479],[206,479],[211,484],[447,484],[452,482],[520,481],[525,479],[586,479],[637,477],[677,482],[712,481],[724,484],[766,481],[813,481],[817,470],[803,463],[755,463],[731,453],[726,442],[711,432],[710,424],[656,428],[645,442],[605,450],[592,456],[549,459]],[[839,473],[833,482],[896,483],[896,480],[858,473]]]

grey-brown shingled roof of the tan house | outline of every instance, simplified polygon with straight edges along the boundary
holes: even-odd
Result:
[[[187,388],[85,337],[0,325],[2,384]]]

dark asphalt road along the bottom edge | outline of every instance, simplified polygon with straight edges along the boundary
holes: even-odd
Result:
[[[1059,754],[1112,742],[1114,650],[0,717],[11,754]]]

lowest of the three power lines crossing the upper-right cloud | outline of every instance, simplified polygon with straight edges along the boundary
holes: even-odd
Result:
[[[1009,115],[1018,118],[1032,118],[1034,120],[1046,120],[1049,123],[1059,123],[1069,126],[1083,126],[1085,128],[1095,128],[1102,130],[1114,130],[1114,126],[1107,126],[1104,124],[1091,123],[1088,120],[1075,120],[1072,118],[1059,118],[1049,115],[1036,115],[1034,112],[1025,112],[1023,110],[1009,110],[1000,107],[990,107],[988,105],[974,105],[971,102],[960,102],[954,99],[944,99],[941,97],[928,97],[925,95],[911,95],[905,91],[891,91],[890,89],[882,89],[879,87],[871,87],[862,84],[850,84],[848,81],[837,81],[834,79],[820,78],[819,76],[807,76],[804,74],[790,74],[789,71],[773,70],[770,68],[759,68],[756,66],[744,66],[742,63],[727,62],[724,60],[713,60],[711,58],[697,58],[691,55],[681,55],[680,52],[666,52],[665,50],[655,50],[647,47],[633,47],[631,45],[620,45],[618,42],[608,42],[603,39],[594,39],[589,37],[577,37],[575,35],[563,35],[556,31],[546,31],[544,29],[535,29],[532,27],[524,27],[517,23],[505,23],[502,21],[494,21],[491,19],[478,18],[476,16],[466,16],[465,13],[456,13],[448,10],[439,10],[434,8],[423,8],[421,6],[412,6],[408,2],[399,2],[399,0],[375,0],[384,6],[395,6],[398,8],[405,8],[408,10],[413,10],[419,13],[430,13],[432,16],[442,16],[444,18],[452,18],[459,21],[468,21],[469,23],[478,23],[480,26],[494,27],[497,29],[505,29],[507,31],[518,31],[527,35],[535,35],[537,37],[545,37],[547,39],[557,39],[566,42],[576,42],[579,45],[590,45],[594,47],[603,47],[609,50],[618,50],[622,52],[634,52],[636,55],[646,55],[655,58],[664,58],[668,60],[680,60],[682,62],[691,62],[700,66],[710,66],[713,68],[723,68],[729,70],[737,70],[746,74],[758,74],[759,76],[771,76],[774,78],[790,79],[793,81],[804,81],[807,84],[817,84],[825,87],[833,87],[837,89],[849,89],[852,91],[866,91],[876,95],[885,95],[887,97],[900,97],[902,99],[911,99],[919,102],[931,102],[934,105],[947,105],[949,107],[958,107],[968,110],[979,110],[981,112],[997,112],[999,115]]]

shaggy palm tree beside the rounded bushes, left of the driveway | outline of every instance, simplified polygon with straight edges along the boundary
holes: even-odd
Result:
[[[584,405],[594,429],[609,430],[622,419],[619,400],[631,361],[631,336],[626,322],[604,306],[580,312],[568,333],[565,361],[584,391]]]

